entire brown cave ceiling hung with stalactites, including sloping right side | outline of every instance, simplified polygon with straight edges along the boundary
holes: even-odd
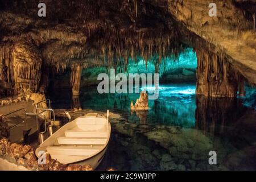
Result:
[[[115,65],[121,57],[127,63],[155,54],[160,60],[189,46],[225,55],[256,84],[255,1],[215,2],[211,18],[210,2],[200,0],[44,0],[47,16],[40,18],[39,1],[1,1],[0,54],[23,45],[31,55],[23,57],[42,59],[42,67],[61,74],[72,63]]]

